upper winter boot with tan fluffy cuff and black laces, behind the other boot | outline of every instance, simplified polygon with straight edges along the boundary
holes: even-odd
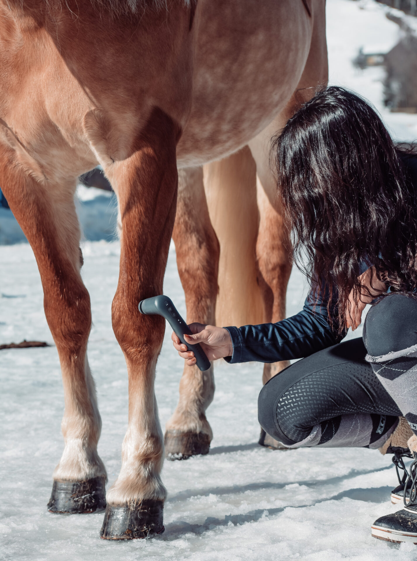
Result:
[[[391,502],[397,504],[402,502],[404,495],[404,484],[408,477],[408,472],[404,465],[403,458],[413,458],[410,449],[407,446],[408,440],[413,436],[413,431],[406,421],[405,417],[400,417],[395,431],[389,436],[387,442],[379,448],[381,454],[393,454],[392,462],[395,465],[399,485],[391,491]],[[400,471],[402,475],[400,476]],[[408,502],[408,494],[406,494]]]

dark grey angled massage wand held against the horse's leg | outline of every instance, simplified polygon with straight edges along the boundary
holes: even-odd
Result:
[[[198,343],[190,345],[190,343],[185,341],[184,333],[186,335],[193,335],[193,333],[191,333],[188,325],[181,318],[180,314],[178,314],[175,306],[172,304],[171,298],[161,295],[141,300],[139,302],[139,311],[141,314],[146,315],[162,315],[162,317],[168,321],[169,325],[171,325],[174,332],[178,335],[181,343],[184,343],[189,351],[193,351],[199,369],[204,372],[204,370],[208,370],[210,368],[210,361],[207,356],[205,356],[205,353],[200,345]]]

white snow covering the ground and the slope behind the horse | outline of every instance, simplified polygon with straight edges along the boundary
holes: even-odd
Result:
[[[327,0],[330,80],[370,99],[398,139],[417,136],[417,116],[382,106],[381,68],[351,66],[363,44],[395,44],[398,27],[374,2]],[[120,245],[112,195],[79,188],[77,210],[84,237],[83,278],[91,296],[93,328],[89,361],[103,419],[99,453],[111,483],[120,469],[127,427],[127,376],[111,327]],[[262,365],[216,364],[216,394],[208,409],[214,439],[208,456],[165,462],[166,531],[152,540],[99,539],[102,513],[47,512],[52,472],[62,453],[63,390],[56,348],[44,312],[39,273],[30,247],[10,211],[0,209],[0,343],[23,338],[51,347],[0,351],[0,559],[107,561],[123,559],[305,559],[411,561],[410,544],[370,536],[370,525],[399,506],[390,457],[367,449],[299,449],[278,452],[257,445],[256,401]],[[14,243],[15,245],[7,245]],[[4,245],[6,244],[6,245]],[[184,293],[169,251],[165,291],[185,314]],[[305,286],[294,269],[287,313],[303,305]],[[354,335],[358,336],[358,330]],[[350,335],[350,337],[352,334]],[[178,399],[182,361],[167,329],[157,364],[159,415],[164,426]]]

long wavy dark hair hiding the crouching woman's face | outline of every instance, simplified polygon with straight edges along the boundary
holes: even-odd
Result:
[[[293,255],[313,286],[337,297],[340,330],[360,261],[398,291],[417,287],[416,187],[381,118],[332,86],[296,112],[273,141]],[[410,158],[413,148],[409,148]]]

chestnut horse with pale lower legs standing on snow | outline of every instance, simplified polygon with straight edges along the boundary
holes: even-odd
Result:
[[[214,323],[219,245],[210,206],[221,243],[241,232],[248,237],[227,207],[221,206],[223,218],[216,214],[223,200],[244,216],[245,181],[239,185],[236,170],[246,169],[252,183],[256,171],[259,227],[251,242],[264,301],[273,319],[283,316],[290,265],[269,139],[327,80],[324,3],[0,0],[0,185],[38,263],[65,391],[65,448],[49,509],[91,512],[107,501],[106,539],[163,531],[164,446],[154,376],[165,325],[159,316],[141,315],[138,302],[162,292],[172,235],[187,320]],[[205,169],[207,205],[201,165],[224,157]],[[112,324],[129,376],[122,467],[106,498],[74,206],[76,178],[97,164],[118,200]],[[235,178],[229,199],[221,194],[224,177]],[[254,189],[248,196],[256,196]],[[255,226],[248,223],[249,234]],[[255,282],[256,272],[248,274]],[[213,389],[212,371],[185,369],[167,427],[174,452],[187,448],[184,441],[198,448],[201,438],[210,440],[204,411]]]

